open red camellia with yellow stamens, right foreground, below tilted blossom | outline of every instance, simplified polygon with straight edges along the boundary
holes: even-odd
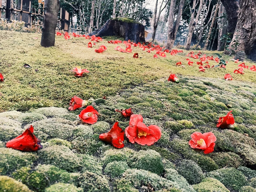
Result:
[[[202,149],[204,154],[212,153],[214,151],[216,136],[212,132],[200,133],[194,132],[191,134],[192,140],[188,142],[191,148]]]

